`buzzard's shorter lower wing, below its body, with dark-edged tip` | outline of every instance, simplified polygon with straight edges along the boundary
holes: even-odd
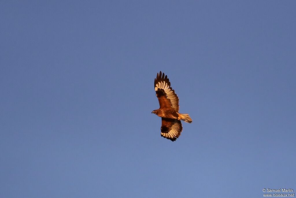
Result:
[[[181,135],[182,129],[180,120],[161,118],[160,135],[162,137],[175,141]]]

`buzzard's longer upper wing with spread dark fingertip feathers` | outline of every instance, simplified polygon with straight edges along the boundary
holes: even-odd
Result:
[[[172,107],[175,111],[179,112],[179,98],[172,87],[170,87],[168,76],[161,71],[159,74],[157,73],[154,80],[154,87],[160,108]]]

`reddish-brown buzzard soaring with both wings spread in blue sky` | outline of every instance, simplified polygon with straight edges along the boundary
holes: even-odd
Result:
[[[154,87],[160,108],[152,111],[152,113],[161,117],[160,135],[175,141],[181,135],[183,129],[181,120],[191,123],[192,119],[188,114],[179,114],[179,98],[170,87],[168,76],[161,71],[159,74],[157,73]]]

